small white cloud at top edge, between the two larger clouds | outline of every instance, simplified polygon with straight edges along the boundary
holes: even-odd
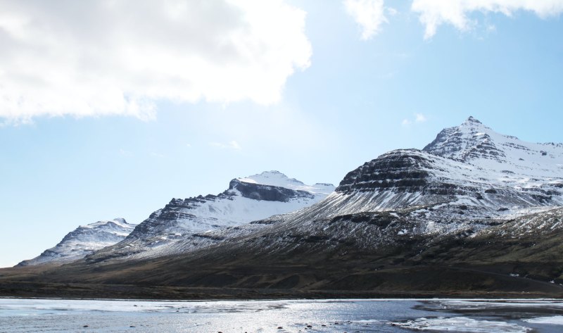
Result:
[[[348,14],[362,28],[364,40],[374,37],[381,30],[381,25],[388,22],[385,17],[384,0],[344,0],[344,6]],[[397,11],[390,8],[388,13],[395,15]]]

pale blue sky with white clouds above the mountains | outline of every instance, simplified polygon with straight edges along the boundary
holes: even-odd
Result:
[[[469,115],[563,142],[563,0],[1,0],[0,267],[279,170],[338,184]]]

